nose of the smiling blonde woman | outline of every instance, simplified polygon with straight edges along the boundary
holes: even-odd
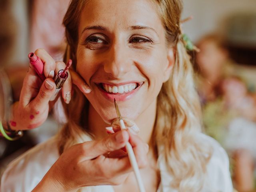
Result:
[[[120,78],[131,70],[132,60],[128,57],[128,50],[125,45],[113,43],[109,52],[108,59],[104,63],[104,70],[112,74],[114,78]]]

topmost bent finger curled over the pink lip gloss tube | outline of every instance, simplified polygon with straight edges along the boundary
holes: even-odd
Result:
[[[56,63],[54,59],[46,52],[44,49],[37,49],[35,54],[42,60],[44,63],[44,76],[46,78],[54,77],[54,70]]]

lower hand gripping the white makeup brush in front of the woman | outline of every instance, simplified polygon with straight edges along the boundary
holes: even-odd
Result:
[[[66,150],[34,191],[44,191],[50,186],[51,191],[76,191],[82,186],[122,184],[132,172],[128,157],[109,158],[106,153],[120,150],[128,141],[139,168],[146,167],[148,144],[129,130],[122,130],[102,140],[76,144]]]

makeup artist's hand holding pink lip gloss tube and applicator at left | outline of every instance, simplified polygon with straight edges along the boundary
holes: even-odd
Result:
[[[65,68],[64,62],[55,62],[54,59],[44,50],[38,49],[35,54],[40,57],[44,63],[44,82],[30,67],[26,74],[20,94],[20,100],[12,106],[12,117],[10,118],[10,127],[12,130],[26,130],[36,128],[42,125],[48,117],[49,110],[55,101],[50,102],[50,98],[55,92],[55,82],[52,79],[54,74]],[[68,72],[69,73],[69,72]],[[79,84],[79,88],[86,93],[88,90],[82,78],[75,72],[72,72],[74,83]],[[71,99],[72,80],[71,75],[66,80],[61,90],[64,101],[68,104]]]

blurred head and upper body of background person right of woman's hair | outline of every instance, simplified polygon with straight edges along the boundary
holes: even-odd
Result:
[[[232,62],[228,57],[228,50],[224,40],[218,34],[209,34],[199,40],[196,54],[198,74],[198,93],[201,102],[215,100],[218,96],[218,85],[225,76],[232,73]]]

